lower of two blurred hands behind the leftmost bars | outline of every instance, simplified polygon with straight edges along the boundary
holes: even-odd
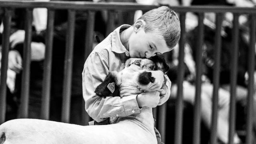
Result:
[[[22,57],[16,50],[11,50],[8,56],[8,67],[16,73],[22,70]]]

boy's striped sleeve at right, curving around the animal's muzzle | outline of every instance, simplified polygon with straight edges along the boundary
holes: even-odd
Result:
[[[164,73],[163,73],[164,74]],[[170,97],[172,82],[166,74],[164,74],[164,84],[162,86],[163,91],[160,93],[160,101],[158,106],[164,104]]]

